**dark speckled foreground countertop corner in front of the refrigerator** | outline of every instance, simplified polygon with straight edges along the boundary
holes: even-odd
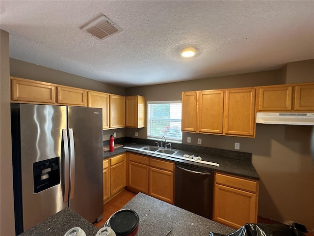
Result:
[[[81,228],[86,236],[95,236],[99,230],[78,213],[66,207],[20,236],[64,236],[74,227]]]

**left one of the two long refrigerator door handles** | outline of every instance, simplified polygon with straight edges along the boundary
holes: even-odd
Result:
[[[69,171],[70,171],[70,159],[69,159],[69,144],[68,144],[68,131],[66,129],[62,130],[62,138],[63,138],[63,158],[64,158],[64,178],[62,179],[63,181],[63,186],[64,186],[64,191],[63,191],[63,202],[67,203],[69,200]],[[63,159],[61,157],[61,159]]]

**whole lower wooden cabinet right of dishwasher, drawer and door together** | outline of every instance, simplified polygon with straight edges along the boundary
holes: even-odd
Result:
[[[259,182],[215,173],[213,220],[238,229],[257,223]]]

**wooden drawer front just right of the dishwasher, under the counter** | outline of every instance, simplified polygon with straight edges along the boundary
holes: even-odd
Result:
[[[226,176],[216,173],[215,175],[215,183],[246,190],[252,193],[256,193],[257,191],[257,182],[251,181],[248,179],[237,178],[232,176]]]

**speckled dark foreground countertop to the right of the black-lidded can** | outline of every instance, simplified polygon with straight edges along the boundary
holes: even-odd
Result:
[[[122,208],[138,214],[141,236],[165,236],[170,230],[168,236],[208,236],[209,232],[228,235],[235,231],[143,193],[138,193]]]

